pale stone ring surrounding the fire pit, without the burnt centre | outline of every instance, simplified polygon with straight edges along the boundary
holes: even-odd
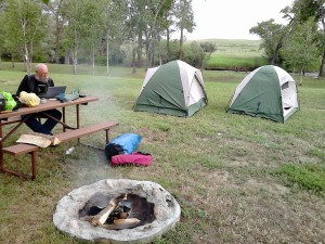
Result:
[[[94,227],[79,218],[78,211],[94,193],[117,196],[122,193],[133,193],[154,203],[156,219],[133,229],[106,230]],[[180,220],[181,208],[174,197],[161,185],[152,181],[135,181],[129,179],[107,179],[93,184],[75,189],[63,196],[53,215],[55,227],[63,232],[81,240],[104,243],[150,243],[174,228]]]

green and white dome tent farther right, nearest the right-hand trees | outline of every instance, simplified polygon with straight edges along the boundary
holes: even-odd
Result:
[[[242,80],[226,112],[285,123],[297,110],[299,101],[294,78],[281,67],[265,65]]]

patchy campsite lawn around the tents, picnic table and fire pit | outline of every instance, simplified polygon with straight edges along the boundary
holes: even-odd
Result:
[[[1,90],[15,92],[23,67],[2,66]],[[100,98],[81,107],[82,124],[118,121],[112,136],[142,136],[138,150],[151,153],[153,164],[110,167],[102,151],[76,142],[40,151],[34,182],[0,174],[0,243],[86,243],[58,232],[52,215],[69,191],[107,178],[155,181],[177,197],[181,221],[155,244],[324,243],[324,79],[306,77],[298,88],[301,110],[277,124],[225,113],[247,73],[204,70],[209,103],[180,118],[132,111],[144,70],[112,67],[108,77],[104,67],[95,76],[87,67],[78,70],[74,76],[72,67],[50,65],[55,85]],[[12,141],[26,131],[23,126]],[[104,141],[104,134],[87,138],[102,149]],[[76,149],[66,155],[70,146]],[[29,157],[5,160],[29,170]]]

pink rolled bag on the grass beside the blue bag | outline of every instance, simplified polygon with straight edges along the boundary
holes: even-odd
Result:
[[[113,166],[116,165],[135,165],[135,166],[148,166],[152,164],[153,156],[148,153],[133,152],[131,154],[115,155],[110,159]]]

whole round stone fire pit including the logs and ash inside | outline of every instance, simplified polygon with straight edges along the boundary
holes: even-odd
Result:
[[[180,220],[174,197],[152,181],[108,179],[75,189],[53,215],[73,236],[106,243],[148,243]]]

